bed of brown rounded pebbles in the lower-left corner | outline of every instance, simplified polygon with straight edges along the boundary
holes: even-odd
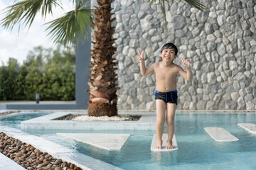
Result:
[[[0,132],[0,152],[28,170],[81,170],[75,164],[55,159],[47,152],[41,152],[4,132]]]

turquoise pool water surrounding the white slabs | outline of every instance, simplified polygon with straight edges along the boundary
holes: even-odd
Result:
[[[43,115],[43,114],[41,114]],[[0,125],[20,128],[20,122],[40,114],[16,115],[1,118]],[[151,152],[154,131],[134,130],[29,130],[37,135],[76,149],[122,169],[256,169],[256,135],[240,128],[238,123],[256,123],[255,113],[176,114],[174,152]],[[221,127],[228,130],[238,142],[215,142],[203,128]],[[56,135],[56,132],[129,133],[131,136],[121,151],[107,151],[82,142]]]

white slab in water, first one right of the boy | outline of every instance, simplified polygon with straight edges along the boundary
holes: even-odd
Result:
[[[231,135],[230,132],[225,130],[224,128],[218,127],[208,127],[204,128],[206,132],[212,137],[215,141],[218,142],[233,142],[238,141],[238,138]]]

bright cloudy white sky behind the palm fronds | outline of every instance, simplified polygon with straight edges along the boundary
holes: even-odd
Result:
[[[11,4],[14,4],[14,0],[0,0],[0,21],[6,15],[4,9]],[[55,49],[56,45],[50,40],[45,31],[46,26],[43,26],[43,24],[62,16],[65,12],[73,10],[73,4],[70,4],[68,0],[62,1],[62,6],[63,9],[55,8],[53,16],[48,15],[46,20],[38,13],[31,27],[29,29],[21,27],[19,33],[18,25],[11,32],[0,26],[0,66],[3,63],[6,65],[9,57],[16,58],[18,63],[22,64],[26,60],[28,52],[38,45],[44,48],[52,47]]]

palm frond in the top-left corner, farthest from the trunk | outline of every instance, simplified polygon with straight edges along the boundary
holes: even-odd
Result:
[[[30,28],[33,20],[38,13],[42,11],[42,15],[46,17],[48,13],[52,13],[53,6],[60,6],[56,0],[23,0],[16,2],[14,5],[5,8],[6,17],[1,20],[4,28],[12,30],[14,26],[24,21],[25,27]]]

